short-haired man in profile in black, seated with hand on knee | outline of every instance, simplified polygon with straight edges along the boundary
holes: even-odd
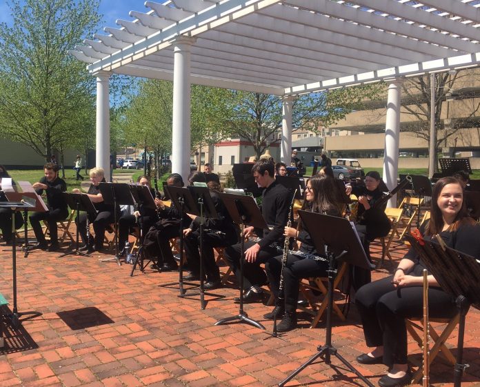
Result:
[[[292,196],[287,188],[275,181],[272,163],[257,161],[252,168],[252,173],[255,182],[264,188],[261,201],[263,219],[266,224],[273,227],[271,230],[263,230],[263,238],[260,241],[246,241],[244,244],[246,250],[243,266],[243,291],[245,291],[243,302],[246,303],[263,301],[263,292],[259,286],[266,284],[267,278],[259,265],[278,255],[277,246],[283,247],[283,228],[287,224]],[[256,231],[261,232],[261,230]],[[243,230],[243,237],[250,237],[253,232],[253,227],[246,227]],[[241,244],[226,248],[225,258],[237,279],[240,280]]]

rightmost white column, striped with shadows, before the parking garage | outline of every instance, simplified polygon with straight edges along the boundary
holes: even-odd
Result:
[[[399,171],[399,142],[400,142],[400,98],[403,79],[387,79],[387,117],[385,126],[385,152],[383,156],[383,181],[389,190],[397,186]],[[397,207],[397,196],[388,201],[388,207]]]

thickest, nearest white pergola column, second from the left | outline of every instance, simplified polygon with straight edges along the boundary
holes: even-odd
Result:
[[[172,172],[186,181],[190,175],[190,48],[194,39],[174,43]]]

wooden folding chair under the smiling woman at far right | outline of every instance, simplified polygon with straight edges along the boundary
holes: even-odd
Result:
[[[452,335],[453,330],[459,324],[460,315],[456,315],[452,319],[432,319],[428,321],[428,333],[430,335],[430,340],[434,343],[433,346],[430,346],[430,357],[429,357],[429,366],[432,364],[432,361],[439,353],[443,356],[449,364],[454,366],[457,363],[457,359],[452,355],[450,350],[446,346],[446,341]],[[436,324],[435,326],[432,323]],[[410,336],[417,341],[420,349],[423,346],[423,319],[406,319],[407,330],[410,333]],[[441,325],[437,325],[441,324]],[[445,326],[441,331],[440,335],[437,333],[437,330]],[[437,330],[435,330],[437,328]],[[420,334],[419,334],[420,332]],[[423,368],[422,364],[417,364],[419,369],[413,375],[413,383],[418,383],[423,377]]]

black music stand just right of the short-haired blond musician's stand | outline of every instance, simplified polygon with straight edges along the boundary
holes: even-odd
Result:
[[[119,206],[133,206],[135,201],[132,197],[132,192],[127,183],[99,183],[99,189],[103,201],[105,204],[113,204],[113,219],[114,227],[118,225],[117,209]],[[121,266],[119,257],[119,236],[118,232],[115,232],[115,256],[113,258],[100,259],[102,262],[117,262],[118,266]]]

